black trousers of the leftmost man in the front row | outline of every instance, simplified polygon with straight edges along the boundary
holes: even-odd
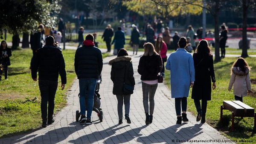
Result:
[[[58,86],[58,81],[39,80],[39,89],[41,93],[41,117],[43,123],[47,122],[47,103],[48,120],[52,119],[54,110],[54,98]]]

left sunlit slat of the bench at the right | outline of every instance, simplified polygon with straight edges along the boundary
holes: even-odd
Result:
[[[233,101],[223,101],[223,107],[231,112],[235,112],[235,115],[245,115],[245,109]]]

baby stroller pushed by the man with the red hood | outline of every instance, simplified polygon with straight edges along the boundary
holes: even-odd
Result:
[[[100,95],[99,95],[99,84],[101,84],[101,77],[99,77],[97,83],[96,83],[96,88],[95,88],[95,92],[94,92],[94,103],[93,103],[93,111],[97,112],[97,115],[99,117],[99,121],[102,122],[103,120],[103,112],[102,112],[102,108],[100,107]],[[78,96],[80,97],[80,93],[78,94]],[[85,104],[87,104],[87,100],[85,99]],[[87,110],[87,108],[85,107],[85,110]],[[81,116],[81,113],[79,112],[79,110],[76,111],[76,121],[79,121],[79,117]]]

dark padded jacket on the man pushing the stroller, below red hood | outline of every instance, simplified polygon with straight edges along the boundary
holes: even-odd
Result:
[[[99,78],[102,66],[102,53],[99,48],[84,45],[76,49],[75,71],[78,79]]]

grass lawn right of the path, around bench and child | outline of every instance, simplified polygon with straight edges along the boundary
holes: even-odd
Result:
[[[228,84],[230,80],[230,68],[233,62],[237,58],[224,58],[221,62],[214,63],[215,77],[216,77],[216,89],[212,90],[212,100],[208,101],[206,122],[211,125],[221,133],[223,133],[227,138],[232,140],[253,140],[256,141],[255,131],[253,130],[254,118],[235,118],[235,130],[231,131],[231,112],[228,110],[223,111],[223,123],[220,123],[220,107],[224,100],[235,100],[233,95],[233,90],[228,91]],[[256,78],[256,63],[255,58],[246,58],[249,66],[252,66],[250,71],[250,78]],[[166,77],[164,82],[170,87],[169,76],[170,71],[166,70]],[[245,104],[256,108],[255,94],[256,94],[256,84],[251,84],[252,93],[243,98]],[[191,98],[191,90],[188,98],[188,111],[192,112],[195,116],[197,115],[195,104]]]

